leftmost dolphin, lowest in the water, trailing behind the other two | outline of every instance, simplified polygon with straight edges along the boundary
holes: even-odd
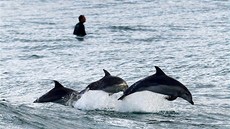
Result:
[[[62,86],[58,81],[53,80],[55,87],[34,101],[34,103],[54,102],[66,106],[73,106],[73,102],[80,99],[78,91]]]

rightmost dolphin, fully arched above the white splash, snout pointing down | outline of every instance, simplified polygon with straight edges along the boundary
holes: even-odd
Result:
[[[151,91],[163,95],[167,95],[166,99],[169,101],[181,97],[194,105],[192,94],[179,81],[167,76],[159,67],[155,66],[156,73],[141,79],[131,85],[124,94],[118,99],[122,100],[126,96],[140,91]]]

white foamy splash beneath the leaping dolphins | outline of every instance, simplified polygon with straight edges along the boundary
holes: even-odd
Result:
[[[103,91],[88,91],[74,103],[81,110],[109,110],[118,112],[158,112],[171,110],[171,102],[164,95],[143,91],[117,100],[122,93],[111,96]]]

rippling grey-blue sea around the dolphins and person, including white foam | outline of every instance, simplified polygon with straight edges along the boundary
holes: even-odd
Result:
[[[230,128],[229,0],[1,0],[0,128]],[[87,36],[72,35],[86,16]],[[195,105],[139,92],[87,92],[74,108],[33,103],[52,80],[82,90],[104,76],[128,85],[159,66]]]

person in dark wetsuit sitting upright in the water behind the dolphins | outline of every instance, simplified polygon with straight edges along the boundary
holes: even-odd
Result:
[[[78,17],[78,20],[79,20],[79,23],[76,24],[73,34],[77,36],[85,36],[86,32],[85,32],[85,26],[83,24],[86,21],[85,16],[80,15]]]

